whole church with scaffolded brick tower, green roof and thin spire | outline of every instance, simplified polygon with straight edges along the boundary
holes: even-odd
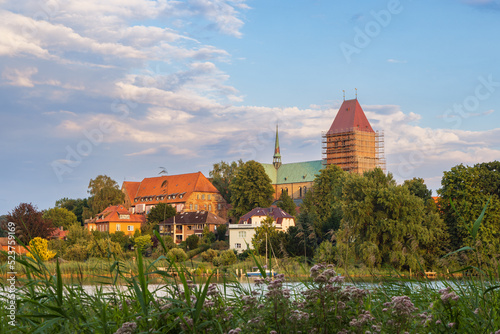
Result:
[[[278,126],[273,163],[261,163],[271,179],[274,199],[283,192],[300,203],[311,190],[314,179],[328,165],[337,165],[345,171],[362,174],[375,167],[384,169],[383,135],[375,132],[358,102],[344,100],[328,132],[323,136],[322,160],[282,163]]]

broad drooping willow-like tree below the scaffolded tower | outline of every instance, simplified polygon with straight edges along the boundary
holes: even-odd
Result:
[[[421,198],[378,168],[363,176],[348,175],[342,211],[337,242],[370,267],[387,263],[396,269],[419,269],[425,265],[426,247],[446,239],[439,216],[426,213]]]

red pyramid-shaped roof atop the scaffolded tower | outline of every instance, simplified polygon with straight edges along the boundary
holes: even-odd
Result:
[[[366,118],[365,112],[358,100],[345,100],[335,117],[335,120],[328,130],[328,133],[340,133],[350,131],[373,131],[370,122]]]

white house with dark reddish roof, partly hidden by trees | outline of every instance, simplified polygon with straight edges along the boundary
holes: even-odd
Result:
[[[273,218],[273,226],[277,230],[286,232],[290,226],[295,226],[295,218],[281,208],[275,206],[255,208],[241,217],[238,224],[229,224],[229,249],[234,249],[238,253],[247,247],[253,249],[252,238],[255,235],[255,228],[259,227],[268,216]]]

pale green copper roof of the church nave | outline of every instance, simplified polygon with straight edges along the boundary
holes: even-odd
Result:
[[[272,164],[261,165],[273,184],[311,182],[324,168],[322,160],[283,164],[278,170]]]

